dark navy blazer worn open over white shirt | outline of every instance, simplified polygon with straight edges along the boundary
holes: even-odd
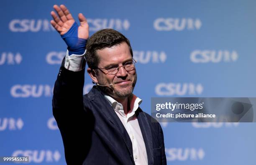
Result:
[[[68,165],[135,165],[130,137],[97,86],[83,96],[84,69],[63,65],[54,85],[53,114]],[[158,122],[140,108],[136,117],[149,165],[166,165],[164,136]]]

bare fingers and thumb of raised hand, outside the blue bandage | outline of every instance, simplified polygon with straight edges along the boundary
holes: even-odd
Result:
[[[60,33],[60,35],[64,35],[73,25],[74,18],[69,13],[69,10],[64,5],[54,5],[54,9],[56,10],[58,16],[54,11],[51,11],[51,16],[54,20],[51,20],[51,25]],[[83,39],[89,38],[89,25],[87,23],[84,15],[79,13],[78,15],[80,25],[78,27],[78,37]]]

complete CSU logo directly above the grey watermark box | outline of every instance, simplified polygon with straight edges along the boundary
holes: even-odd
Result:
[[[155,87],[155,92],[159,96],[184,96],[202,94],[202,84],[193,83],[159,83]]]

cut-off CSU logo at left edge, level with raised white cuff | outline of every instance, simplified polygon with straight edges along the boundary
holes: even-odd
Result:
[[[8,64],[8,65],[14,65],[14,64],[20,64],[22,61],[22,56],[19,52],[12,53],[12,52],[3,52],[1,53],[0,57],[0,65]]]

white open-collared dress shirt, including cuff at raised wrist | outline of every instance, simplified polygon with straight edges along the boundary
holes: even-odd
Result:
[[[64,67],[70,71],[81,71],[82,63],[84,59],[85,59],[84,55],[72,54],[69,56],[69,53],[67,50]],[[139,104],[141,104],[142,100],[132,94],[129,97],[129,103],[131,104],[131,106],[133,105],[133,107],[131,107],[132,111],[130,111],[126,116],[124,113],[122,104],[120,104],[119,102],[117,102],[115,99],[113,99],[108,95],[105,95],[105,98],[113,107],[115,113],[118,115],[120,121],[123,123],[123,126],[125,127],[131,139],[131,142],[133,145],[133,160],[135,164],[148,165],[146,146],[143,140],[143,136],[141,134],[141,128],[138,124],[138,119],[135,115],[135,112],[136,110],[138,110]]]

